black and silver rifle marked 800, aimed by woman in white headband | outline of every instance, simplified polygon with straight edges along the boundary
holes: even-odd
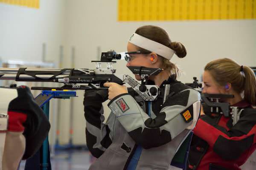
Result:
[[[15,80],[21,82],[58,82],[63,83],[62,87],[32,87],[32,90],[86,90],[105,88],[105,82],[115,82],[119,85],[127,83],[144,100],[153,101],[158,96],[166,96],[168,86],[161,90],[157,85],[145,85],[148,77],[159,74],[160,68],[145,68],[129,66],[134,73],[139,74],[141,83],[131,76],[123,74],[116,76],[116,69],[112,64],[116,63],[113,59],[121,59],[121,54],[115,51],[102,52],[100,61],[95,63],[96,69],[87,68],[0,68],[0,79]],[[102,67],[106,65],[106,67]],[[87,85],[84,85],[87,84]],[[166,95],[165,95],[166,94]],[[164,98],[164,97],[163,97]],[[164,98],[165,100],[165,98]]]

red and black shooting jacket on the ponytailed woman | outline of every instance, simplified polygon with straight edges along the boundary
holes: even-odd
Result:
[[[241,112],[233,126],[222,114],[203,115],[194,129],[188,170],[241,170],[239,166],[256,149],[256,109],[246,102],[236,103]],[[214,168],[213,168],[214,167]]]

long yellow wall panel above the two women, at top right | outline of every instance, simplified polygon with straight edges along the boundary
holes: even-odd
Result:
[[[256,0],[118,0],[119,21],[253,19]]]

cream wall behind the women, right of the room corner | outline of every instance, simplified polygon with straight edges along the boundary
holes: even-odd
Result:
[[[70,66],[71,46],[76,49],[76,68],[94,68],[90,60],[99,57],[97,48],[100,47],[101,51],[126,51],[128,37],[143,25],[160,26],[166,29],[171,40],[185,45],[187,56],[171,60],[185,72],[186,75],[180,78],[182,82],[192,82],[195,76],[199,78],[207,62],[221,57],[235,59],[241,65],[256,66],[256,20],[118,22],[117,0],[68,0],[67,6],[66,66]],[[123,61],[115,68],[117,74],[130,74]],[[75,143],[85,141],[83,97],[80,93],[73,111],[76,115],[74,136],[79,136]],[[69,110],[66,107],[63,110]],[[105,109],[108,115],[109,109]],[[68,138],[62,136],[61,139],[67,142]]]

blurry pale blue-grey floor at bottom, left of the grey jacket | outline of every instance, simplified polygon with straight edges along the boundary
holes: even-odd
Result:
[[[51,156],[52,170],[88,170],[94,160],[89,151],[58,151]],[[24,170],[25,161],[21,161],[20,169]]]

